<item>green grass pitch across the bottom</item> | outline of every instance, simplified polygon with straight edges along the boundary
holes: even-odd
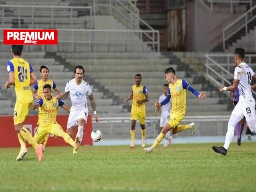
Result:
[[[38,162],[32,148],[23,161],[19,148],[0,148],[0,192],[200,192],[256,191],[256,143],[230,145],[226,156],[212,144],[47,147]]]

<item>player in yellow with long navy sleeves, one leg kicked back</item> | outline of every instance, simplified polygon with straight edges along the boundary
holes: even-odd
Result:
[[[179,131],[191,129],[192,133],[195,133],[195,123],[192,122],[189,125],[180,125],[186,113],[186,90],[191,91],[199,99],[206,98],[206,93],[198,93],[193,87],[191,87],[187,81],[178,79],[175,70],[169,67],[165,70],[166,80],[169,82],[168,94],[163,102],[156,102],[156,107],[159,108],[161,105],[165,105],[169,102],[172,97],[172,110],[170,114],[169,122],[163,126],[162,131],[158,135],[157,139],[151,147],[144,148],[146,153],[151,153],[159,143],[163,140],[165,134],[172,129],[172,134],[176,134]]]

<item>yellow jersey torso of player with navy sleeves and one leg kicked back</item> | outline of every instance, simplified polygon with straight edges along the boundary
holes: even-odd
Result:
[[[175,84],[169,84],[169,89],[172,98],[171,113],[184,114],[186,113],[186,89],[183,88],[182,79],[177,79]]]

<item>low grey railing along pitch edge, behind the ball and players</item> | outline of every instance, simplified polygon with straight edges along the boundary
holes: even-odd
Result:
[[[196,136],[223,136],[227,131],[230,116],[185,116],[183,124],[195,122]],[[147,116],[145,120],[147,138],[154,138],[159,134],[159,116]],[[131,117],[102,117],[99,123],[93,119],[93,129],[100,129],[104,138],[129,138]],[[137,134],[140,136],[140,134]],[[180,136],[191,136],[190,131],[179,133]]]

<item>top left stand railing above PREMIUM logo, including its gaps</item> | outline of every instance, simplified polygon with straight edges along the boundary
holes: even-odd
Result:
[[[12,28],[30,27],[34,29],[38,28],[35,27],[35,24],[38,22],[49,23],[48,28],[55,29],[57,28],[55,27],[56,23],[65,21],[69,24],[70,29],[73,29],[75,20],[81,23],[86,22],[88,29],[93,28],[93,13],[92,8],[89,6],[0,5],[0,12],[1,28],[6,28],[6,24],[10,24]],[[61,26],[58,25],[58,28],[61,28]]]

